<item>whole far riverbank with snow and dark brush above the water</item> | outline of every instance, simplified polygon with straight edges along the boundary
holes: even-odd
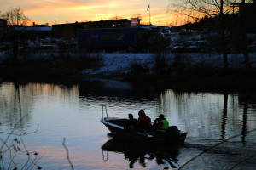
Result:
[[[47,55],[46,55],[47,56]],[[30,58],[16,65],[3,63],[5,79],[50,80],[115,79],[140,87],[172,87],[191,90],[256,88],[255,75],[244,70],[241,54],[229,55],[228,72],[221,54],[72,54]],[[255,68],[256,54],[250,54]],[[254,61],[255,60],[255,61]]]

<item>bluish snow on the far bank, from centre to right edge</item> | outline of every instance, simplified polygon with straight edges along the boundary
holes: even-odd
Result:
[[[131,70],[131,65],[134,63],[147,65],[148,68],[154,66],[154,59],[157,54],[139,54],[139,53],[102,53],[104,60],[102,67],[98,70],[87,69],[82,71],[84,74],[110,74],[114,71],[125,73]],[[188,65],[211,65],[212,68],[223,67],[223,54],[203,54],[203,53],[166,53],[166,62],[170,65],[177,58],[181,59]],[[250,53],[249,59],[252,67],[256,68],[256,53]],[[228,54],[228,63],[230,68],[245,68],[243,54]]]

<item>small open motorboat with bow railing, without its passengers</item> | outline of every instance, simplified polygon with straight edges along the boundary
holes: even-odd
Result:
[[[106,117],[103,116],[104,111]],[[128,119],[108,117],[107,107],[105,105],[102,106],[101,122],[108,127],[108,130],[113,133],[113,136],[137,144],[184,144],[187,136],[186,132],[178,130],[176,126],[168,127],[165,132],[141,133],[127,130],[125,125]]]

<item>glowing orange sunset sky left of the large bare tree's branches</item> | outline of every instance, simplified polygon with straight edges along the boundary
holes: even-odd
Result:
[[[144,23],[149,22],[150,3],[151,23],[166,26],[177,23],[177,16],[167,13],[172,0],[1,0],[0,11],[21,8],[24,14],[37,24],[64,24],[75,21],[109,20],[118,15],[130,19],[133,14],[141,14]]]

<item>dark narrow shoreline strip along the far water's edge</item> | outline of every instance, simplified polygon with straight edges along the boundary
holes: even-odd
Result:
[[[16,70],[17,71],[17,70]],[[90,79],[117,80],[120,82],[128,82],[134,87],[154,87],[154,88],[172,88],[178,90],[189,91],[255,91],[256,77],[241,76],[205,76],[205,75],[121,75],[118,72],[106,74],[71,74],[71,75],[52,75],[52,74],[0,74],[3,81],[24,80],[25,82],[60,82],[60,83],[78,83],[88,81]],[[12,72],[15,73],[15,72]]]

